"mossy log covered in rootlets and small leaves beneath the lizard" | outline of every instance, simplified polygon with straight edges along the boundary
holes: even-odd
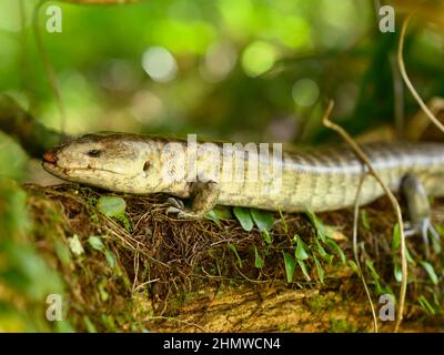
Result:
[[[23,187],[34,226],[32,242],[64,280],[65,317],[75,331],[373,331],[371,307],[352,263],[343,263],[340,254],[326,250],[333,261],[320,263],[324,271],[321,277],[311,257],[317,231],[304,214],[274,214],[269,244],[256,227],[245,232],[234,217],[215,223],[169,216],[162,194],[114,194],[73,184]],[[122,197],[124,215],[103,214],[98,209],[103,195]],[[440,203],[434,205],[434,221],[441,223],[443,210]],[[364,211],[361,264],[371,262],[377,273],[375,280],[364,266],[379,312],[379,293],[396,296],[400,286],[393,276],[398,263],[398,251],[392,250],[395,217],[385,199]],[[319,217],[324,225],[336,227],[329,233],[352,260],[352,211]],[[305,260],[306,273],[296,264],[294,280],[289,283],[283,253],[294,255],[296,234],[310,257]],[[407,244],[412,258],[421,260],[420,239]],[[255,263],[258,255],[261,267]],[[440,254],[430,260],[440,283],[442,261]],[[402,331],[444,329],[436,304],[442,302],[441,290],[440,284],[430,282],[423,267],[410,265]],[[421,296],[430,301],[433,312],[424,311]],[[379,321],[379,326],[392,332],[394,322]]]

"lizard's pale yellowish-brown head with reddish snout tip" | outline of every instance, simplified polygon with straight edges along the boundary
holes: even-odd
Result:
[[[107,190],[133,192],[139,179],[153,173],[155,144],[123,133],[87,134],[43,154],[49,173],[71,182]]]

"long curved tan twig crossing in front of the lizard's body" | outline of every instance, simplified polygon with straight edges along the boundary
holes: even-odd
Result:
[[[401,268],[402,268],[402,283],[401,283],[401,290],[400,290],[400,303],[398,303],[398,308],[397,308],[397,318],[396,318],[396,324],[395,324],[395,329],[394,332],[396,333],[400,328],[401,322],[403,320],[403,313],[404,313],[404,304],[405,304],[405,294],[407,291],[407,258],[405,254],[405,235],[404,235],[404,224],[403,224],[403,217],[401,213],[401,207],[400,204],[397,203],[397,200],[395,195],[392,193],[392,191],[387,187],[387,185],[384,183],[384,181],[381,179],[381,176],[376,173],[376,171],[373,169],[372,163],[370,162],[370,159],[365,155],[363,150],[357,145],[357,143],[349,135],[349,133],[340,125],[333,123],[330,121],[330,114],[333,110],[334,102],[330,101],[327,109],[325,110],[324,116],[322,118],[322,123],[333,130],[336,131],[343,140],[352,148],[356,156],[367,166],[369,173],[373,175],[381,187],[384,190],[385,194],[390,199],[393,209],[396,213],[397,217],[397,223],[400,225],[400,234],[401,234]]]

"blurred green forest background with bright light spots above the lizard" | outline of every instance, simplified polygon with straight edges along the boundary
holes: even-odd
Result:
[[[417,1],[47,1],[38,26],[63,123],[36,44],[37,3],[0,0],[0,92],[69,134],[193,132],[312,145],[334,136],[320,123],[326,99],[353,134],[393,124],[396,105],[398,116],[418,110],[398,90],[395,61],[402,20]],[[61,33],[46,30],[54,4]],[[395,33],[379,30],[382,4],[395,8]],[[425,101],[444,95],[442,14],[443,1],[423,2],[405,43],[408,73]],[[26,161],[20,148],[3,134],[0,146],[0,174],[23,179],[20,166],[12,169]]]

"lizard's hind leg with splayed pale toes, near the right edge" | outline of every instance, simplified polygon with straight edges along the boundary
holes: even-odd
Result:
[[[402,194],[407,203],[410,223],[405,235],[421,234],[424,241],[425,256],[430,255],[428,235],[434,241],[440,239],[431,222],[431,211],[427,195],[422,183],[414,176],[407,175],[402,182]]]

